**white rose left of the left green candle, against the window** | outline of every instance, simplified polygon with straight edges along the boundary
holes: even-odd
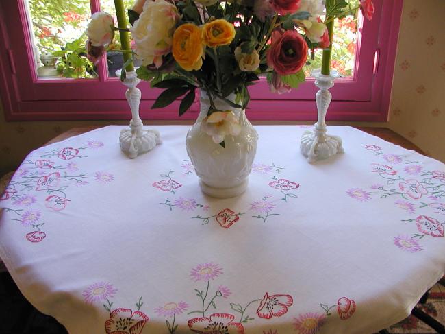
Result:
[[[88,23],[86,34],[93,47],[101,47],[111,43],[114,37],[113,16],[105,12],[95,12]]]

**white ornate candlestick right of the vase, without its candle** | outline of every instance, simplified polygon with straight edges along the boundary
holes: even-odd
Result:
[[[314,124],[313,131],[305,131],[301,136],[301,153],[307,158],[309,163],[323,160],[343,153],[342,139],[339,136],[327,134],[325,117],[332,95],[329,88],[333,86],[334,80],[339,77],[338,72],[331,70],[329,75],[321,74],[320,70],[312,71],[311,75],[315,77],[315,85],[320,88],[316,94],[318,120]]]

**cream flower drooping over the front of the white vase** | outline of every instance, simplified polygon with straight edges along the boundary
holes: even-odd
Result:
[[[221,143],[225,136],[238,136],[241,126],[231,110],[216,111],[201,121],[201,131],[212,136],[214,143]]]

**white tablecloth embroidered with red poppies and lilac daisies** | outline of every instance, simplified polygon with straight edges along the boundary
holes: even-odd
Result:
[[[69,333],[372,333],[444,275],[444,164],[329,127],[345,153],[309,165],[305,127],[257,126],[246,193],[217,200],[188,128],[135,160],[118,126],[42,147],[2,194],[0,257]]]

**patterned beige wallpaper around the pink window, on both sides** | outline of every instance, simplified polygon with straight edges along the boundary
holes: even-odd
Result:
[[[444,17],[444,0],[404,1],[389,121],[357,125],[387,126],[445,162]],[[0,174],[16,168],[29,151],[70,128],[125,123],[6,122],[0,106]]]

